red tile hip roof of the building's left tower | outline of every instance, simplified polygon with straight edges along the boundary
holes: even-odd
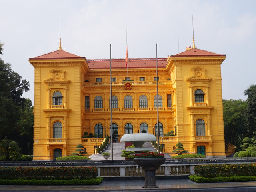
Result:
[[[80,57],[72,53],[66,52],[64,50],[57,50],[54,52],[50,52],[50,53],[40,55],[34,58],[29,58],[29,59],[74,59],[74,58],[85,59],[85,57]]]

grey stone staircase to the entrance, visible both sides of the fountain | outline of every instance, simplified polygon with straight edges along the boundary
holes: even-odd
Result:
[[[151,142],[145,142],[143,144],[144,147],[148,147],[148,148],[152,148],[152,151],[157,151],[152,147]],[[121,157],[122,154],[122,150],[125,149],[125,143],[113,143],[113,160],[125,160],[124,157]],[[108,160],[111,160],[111,146],[110,143],[108,144],[108,147],[103,151],[103,152],[109,152],[110,153],[110,157],[108,158]],[[104,161],[105,158],[102,156],[102,154],[93,154],[91,156],[89,156],[91,158],[92,161]],[[164,153],[164,157],[166,159],[170,159],[171,156],[168,153]]]

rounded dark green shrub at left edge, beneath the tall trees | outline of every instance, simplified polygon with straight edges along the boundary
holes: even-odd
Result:
[[[17,161],[20,159],[20,147],[15,141],[4,138],[0,142],[0,156],[6,161]]]

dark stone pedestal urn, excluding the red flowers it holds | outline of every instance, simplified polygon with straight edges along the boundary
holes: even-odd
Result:
[[[134,162],[145,171],[145,185],[143,188],[158,188],[156,185],[156,170],[165,158],[134,158]]]

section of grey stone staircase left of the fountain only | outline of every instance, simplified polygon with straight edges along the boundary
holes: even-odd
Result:
[[[113,160],[125,160],[125,157],[121,157],[122,150],[125,149],[125,143],[113,143]],[[109,152],[110,157],[108,160],[111,159],[111,146],[110,143],[108,144],[108,147],[103,152]],[[89,156],[92,161],[104,161],[105,158],[102,156],[102,154],[93,154]]]

